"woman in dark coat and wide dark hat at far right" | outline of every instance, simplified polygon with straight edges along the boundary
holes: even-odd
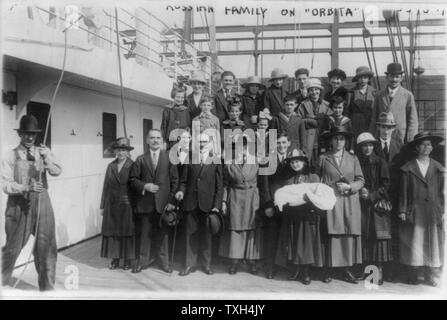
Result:
[[[434,268],[443,262],[444,252],[444,167],[430,158],[441,137],[422,132],[408,144],[417,157],[401,168],[399,194],[400,262],[408,266],[408,282],[417,284],[418,269],[425,281],[436,286]]]

